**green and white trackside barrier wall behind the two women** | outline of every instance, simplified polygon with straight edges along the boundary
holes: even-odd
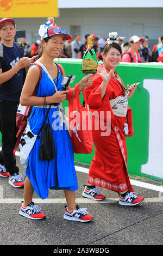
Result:
[[[82,60],[55,59],[61,64],[67,75],[76,75],[71,87],[74,87],[85,75],[82,73]],[[128,173],[163,181],[163,63],[120,63],[116,71],[124,84],[140,82],[139,88],[128,100],[133,110],[134,135],[126,137],[128,150]],[[83,96],[80,97],[81,103]],[[68,101],[63,103],[68,107]],[[1,139],[1,137],[0,137]],[[74,161],[90,164],[95,154],[74,154]]]

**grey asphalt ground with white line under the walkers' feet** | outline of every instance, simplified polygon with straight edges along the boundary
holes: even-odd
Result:
[[[24,177],[18,157],[17,161]],[[156,190],[133,186],[145,200],[138,206],[128,207],[118,204],[115,192],[103,188],[99,188],[106,196],[103,202],[83,198],[87,174],[77,172],[77,176],[77,203],[94,216],[89,223],[64,220],[64,193],[53,190],[45,200],[34,194],[34,203],[46,214],[46,220],[33,221],[20,216],[23,188],[14,188],[8,184],[8,178],[0,177],[0,245],[162,245],[163,190],[160,182],[143,180],[148,185],[157,185]]]

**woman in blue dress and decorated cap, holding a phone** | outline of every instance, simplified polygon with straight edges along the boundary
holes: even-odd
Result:
[[[20,215],[33,220],[45,218],[46,216],[41,212],[39,206],[35,205],[32,201],[33,192],[35,191],[42,199],[45,199],[48,197],[49,189],[62,189],[64,190],[67,202],[67,206],[65,206],[65,220],[91,221],[92,215],[89,215],[86,209],[79,208],[76,205],[75,191],[78,189],[78,182],[74,168],[73,146],[70,134],[65,129],[65,123],[62,123],[59,118],[59,105],[60,102],[66,100],[68,90],[62,91],[61,82],[63,77],[65,77],[65,71],[61,66],[61,75],[58,65],[53,60],[59,57],[64,47],[64,40],[69,39],[70,35],[65,30],[57,27],[53,22],[47,22],[45,26],[41,25],[40,31],[39,34],[42,40],[37,63],[46,68],[55,86],[57,86],[57,90],[55,90],[54,83],[47,75],[45,69],[42,69],[39,89],[36,96],[32,96],[40,75],[38,66],[32,65],[22,89],[20,102],[23,106],[33,106],[29,125],[30,130],[35,135],[37,135],[45,120],[43,97],[46,95],[47,105],[52,103],[48,118],[53,133],[56,155],[52,161],[42,161],[39,158],[40,138],[36,139],[34,147],[29,154],[26,176],[24,178],[24,202],[21,204]],[[91,86],[91,84],[92,75],[85,76],[79,82],[79,89],[82,90],[85,86]],[[73,96],[75,96],[74,92]],[[54,102],[58,103],[58,106],[54,105]]]

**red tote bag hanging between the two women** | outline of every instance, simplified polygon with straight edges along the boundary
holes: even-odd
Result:
[[[93,149],[93,138],[91,129],[91,120],[89,117],[89,109],[87,108],[85,92],[83,96],[85,101],[84,107],[80,103],[79,83],[74,87],[76,97],[73,99],[73,89],[71,88],[67,94],[69,102],[68,117],[71,141],[73,150],[76,154],[91,154]]]

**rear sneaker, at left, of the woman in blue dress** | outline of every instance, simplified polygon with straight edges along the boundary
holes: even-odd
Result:
[[[32,220],[43,220],[46,218],[45,214],[41,212],[40,207],[33,202],[24,207],[22,201],[19,214]]]

